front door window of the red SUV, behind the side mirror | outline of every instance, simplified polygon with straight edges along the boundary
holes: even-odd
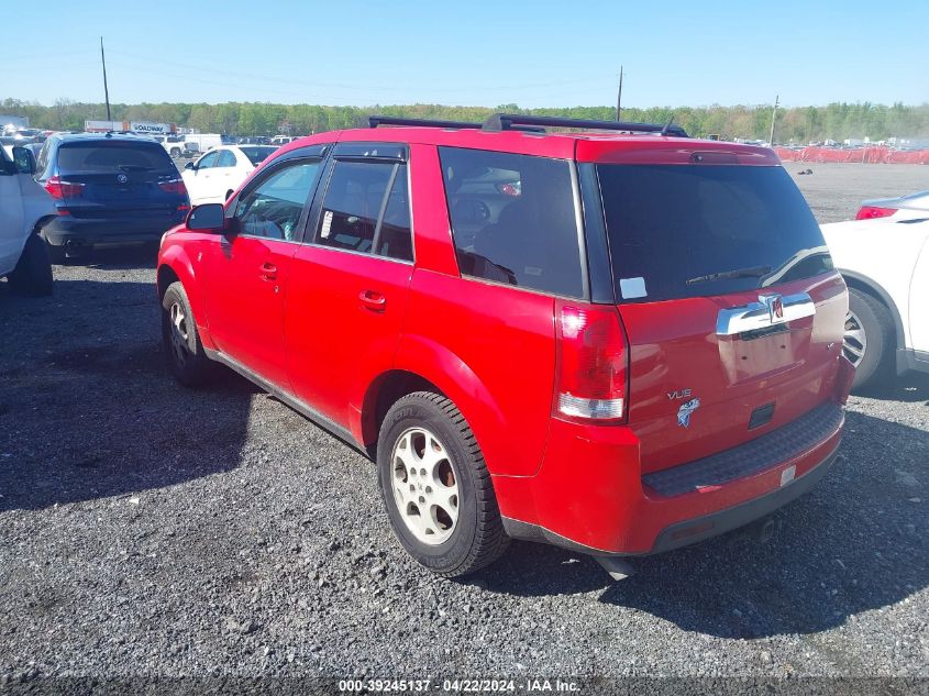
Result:
[[[245,194],[235,208],[241,233],[292,242],[319,167],[318,161],[291,164]]]

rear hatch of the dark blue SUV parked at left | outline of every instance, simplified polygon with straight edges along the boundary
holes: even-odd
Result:
[[[188,206],[180,175],[157,143],[122,140],[65,142],[57,174],[67,187],[64,205],[76,218],[170,223]]]

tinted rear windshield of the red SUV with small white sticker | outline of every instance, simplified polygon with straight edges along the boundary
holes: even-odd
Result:
[[[617,298],[723,295],[832,268],[783,167],[599,165]]]

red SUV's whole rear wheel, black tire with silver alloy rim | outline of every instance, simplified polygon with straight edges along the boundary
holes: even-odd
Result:
[[[445,397],[417,391],[390,407],[377,440],[377,472],[394,533],[433,573],[466,575],[506,550],[480,448]]]

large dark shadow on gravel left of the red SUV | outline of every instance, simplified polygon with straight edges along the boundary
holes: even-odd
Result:
[[[108,267],[137,267],[119,252]],[[112,278],[56,280],[55,295],[38,299],[0,284],[0,511],[130,495],[239,465],[256,389],[225,371],[203,391],[177,385],[164,366],[153,283]]]

